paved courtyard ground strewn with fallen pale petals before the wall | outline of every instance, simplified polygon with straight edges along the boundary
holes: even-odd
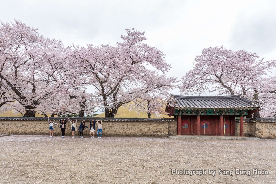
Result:
[[[12,135],[0,137],[0,149],[0,183],[276,182],[275,140]],[[173,168],[207,174],[172,175]],[[250,176],[236,175],[236,168]],[[253,175],[254,168],[269,174]],[[218,174],[218,169],[233,175]]]

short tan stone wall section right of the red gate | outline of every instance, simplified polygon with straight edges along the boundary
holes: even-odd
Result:
[[[239,120],[235,122],[235,135],[240,136]],[[259,137],[261,139],[276,139],[276,118],[244,119],[244,136]]]

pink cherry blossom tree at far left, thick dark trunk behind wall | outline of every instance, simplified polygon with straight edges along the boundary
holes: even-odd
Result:
[[[37,106],[53,94],[60,75],[63,45],[59,40],[45,39],[37,29],[15,20],[0,27],[0,78],[10,87],[13,98],[25,108],[24,116],[34,117]],[[54,67],[51,75],[49,65]]]

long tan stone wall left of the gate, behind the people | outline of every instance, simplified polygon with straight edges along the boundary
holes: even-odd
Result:
[[[90,127],[85,119],[86,126]],[[168,134],[176,135],[176,120],[167,119],[143,119],[143,118],[97,118],[103,121],[103,136],[120,137],[167,137]],[[59,124],[59,119],[52,118],[54,123]],[[71,119],[71,121],[73,118]],[[77,129],[80,121],[77,122]],[[65,136],[71,136],[71,123],[67,121]],[[97,125],[96,125],[97,131]],[[0,133],[15,135],[49,135],[49,123],[47,118],[0,118]],[[89,136],[89,128],[83,131],[84,136]],[[54,135],[61,135],[59,125],[54,125]],[[76,136],[79,135],[77,131]]]

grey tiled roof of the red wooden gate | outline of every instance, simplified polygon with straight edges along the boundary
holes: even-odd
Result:
[[[181,96],[171,95],[168,106],[189,109],[242,109],[258,108],[260,104],[242,95],[229,96]]]

